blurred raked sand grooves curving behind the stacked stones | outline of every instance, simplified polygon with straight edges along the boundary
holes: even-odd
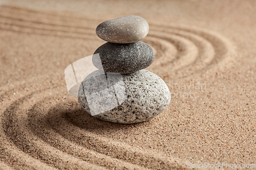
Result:
[[[4,9],[8,11],[12,8],[4,7]],[[3,12],[2,14],[0,13],[0,29],[70,38],[97,38],[93,28],[67,25],[67,17],[65,17],[65,25],[61,23],[57,25],[56,23],[20,18],[20,15],[18,15],[19,11],[17,11],[15,10],[14,12],[17,15],[16,17],[7,16]],[[22,13],[30,12],[24,9],[21,11],[23,11]],[[33,13],[36,12],[33,11]],[[61,21],[59,17],[56,18],[58,21]],[[70,22],[68,23],[70,24]],[[153,42],[150,40],[152,38],[158,39],[155,39]],[[163,52],[158,56],[167,56],[164,59],[156,60],[148,69],[156,72],[156,74],[160,74],[162,69],[166,69],[167,71],[161,74],[162,77],[172,76],[172,79],[200,72],[213,64],[218,64],[224,58],[234,55],[232,45],[221,35],[211,33],[208,30],[187,28],[186,26],[168,26],[165,23],[160,25],[151,23],[150,33],[143,41],[150,44],[156,53],[159,51]],[[163,50],[163,46],[168,50]],[[175,46],[178,52],[176,53],[174,47],[170,46]],[[174,52],[170,52],[171,50]]]

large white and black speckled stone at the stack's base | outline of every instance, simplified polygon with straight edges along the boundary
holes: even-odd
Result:
[[[96,70],[82,82],[78,101],[99,119],[132,124],[163,112],[170,102],[170,92],[160,77],[147,70],[125,75]]]

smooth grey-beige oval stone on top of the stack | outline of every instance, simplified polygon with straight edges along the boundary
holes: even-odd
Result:
[[[100,23],[96,28],[99,38],[113,43],[133,43],[148,33],[147,21],[136,15],[123,16]]]

